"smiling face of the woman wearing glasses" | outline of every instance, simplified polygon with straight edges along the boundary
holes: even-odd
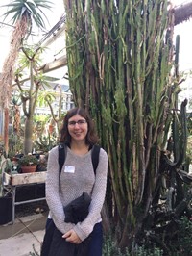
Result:
[[[85,141],[88,124],[84,117],[77,114],[69,118],[68,132],[71,136],[71,141]]]

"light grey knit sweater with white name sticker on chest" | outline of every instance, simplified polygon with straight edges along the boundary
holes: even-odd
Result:
[[[56,146],[49,152],[47,166],[46,199],[50,214],[61,233],[64,234],[73,229],[84,241],[92,232],[94,225],[101,221],[101,210],[107,186],[108,156],[106,151],[101,148],[95,175],[91,151],[84,156],[79,156],[67,147],[66,159],[60,177],[58,158],[59,150]],[[91,195],[87,218],[76,225],[65,223],[63,207],[82,195],[83,192]]]

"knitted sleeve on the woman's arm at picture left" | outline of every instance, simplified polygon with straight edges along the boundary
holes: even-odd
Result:
[[[60,200],[59,192],[59,162],[58,146],[49,152],[46,178],[46,200],[49,206],[51,217],[62,234],[73,228],[74,224],[64,222],[64,210]]]

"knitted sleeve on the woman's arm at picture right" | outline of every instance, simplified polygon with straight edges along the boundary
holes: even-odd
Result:
[[[82,241],[92,232],[94,225],[101,218],[101,210],[104,204],[107,187],[108,173],[108,155],[101,148],[99,155],[99,164],[96,169],[95,184],[91,194],[91,204],[89,214],[83,222],[79,222],[74,226],[74,231]]]

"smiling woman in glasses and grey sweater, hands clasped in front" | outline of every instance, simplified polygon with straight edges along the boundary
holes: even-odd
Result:
[[[101,210],[106,195],[107,153],[104,149],[100,149],[99,163],[94,173],[91,148],[98,142],[98,138],[91,118],[80,108],[72,109],[65,115],[60,131],[60,142],[67,145],[60,178],[59,150],[56,146],[49,153],[46,181],[46,199],[54,224],[60,231],[58,237],[61,236],[65,245],[72,248],[71,255],[101,256]],[[63,207],[81,196],[83,192],[91,197],[87,217],[77,224],[66,223]],[[60,252],[57,255],[60,244],[54,244],[57,241],[58,239],[55,239],[51,243],[51,253],[56,256],[60,255]],[[70,248],[67,247],[66,250]],[[62,255],[69,256],[69,251],[65,253],[62,250]]]

